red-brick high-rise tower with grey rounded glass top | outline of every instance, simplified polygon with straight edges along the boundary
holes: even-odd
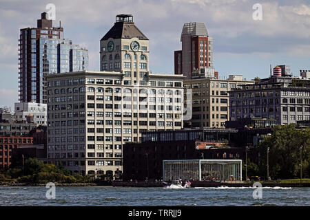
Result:
[[[204,23],[185,23],[180,37],[182,50],[174,52],[174,74],[192,78],[195,70],[213,69],[212,38]]]

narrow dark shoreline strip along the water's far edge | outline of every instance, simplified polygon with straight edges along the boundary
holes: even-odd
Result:
[[[211,182],[211,181],[192,181],[192,188],[196,187],[253,187],[254,183],[228,183],[228,182]],[[261,183],[262,187],[310,187],[310,183],[276,183],[266,182]],[[1,186],[46,186],[46,184],[32,184],[32,183],[15,183],[15,182],[0,182]],[[103,182],[103,183],[74,183],[74,184],[59,184],[55,183],[55,186],[61,187],[90,187],[90,186],[113,186],[113,187],[136,187],[136,188],[153,188],[161,187],[163,184],[144,181],[140,182],[129,182],[129,181],[114,181],[114,182]]]

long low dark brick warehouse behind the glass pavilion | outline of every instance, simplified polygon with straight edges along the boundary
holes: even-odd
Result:
[[[127,143],[123,148],[123,180],[161,179],[163,161],[174,159],[245,159],[258,163],[255,147],[272,133],[259,129],[182,129],[149,131],[141,143]]]

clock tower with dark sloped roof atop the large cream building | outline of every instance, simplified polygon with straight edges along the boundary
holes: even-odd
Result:
[[[132,14],[116,15],[101,39],[100,69],[122,72],[127,85],[138,85],[149,72],[149,39],[134,25]]]

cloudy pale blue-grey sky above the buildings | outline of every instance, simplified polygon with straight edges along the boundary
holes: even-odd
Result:
[[[18,39],[21,28],[37,27],[45,7],[56,9],[54,26],[89,52],[89,69],[99,70],[99,41],[116,14],[132,14],[149,39],[149,70],[173,74],[184,23],[205,23],[213,38],[219,76],[269,76],[270,65],[290,65],[293,76],[310,69],[309,0],[0,0],[0,107],[18,100]],[[262,19],[253,19],[259,3]]]

